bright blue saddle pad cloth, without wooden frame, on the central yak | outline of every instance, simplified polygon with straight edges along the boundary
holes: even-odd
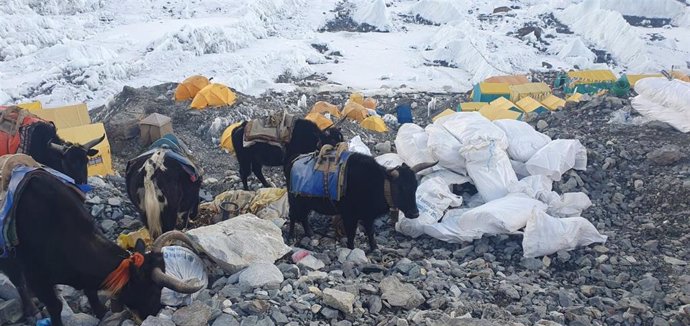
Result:
[[[329,198],[337,201],[345,194],[347,159],[352,152],[342,152],[336,168],[325,172],[317,169],[318,153],[297,157],[290,170],[290,192],[300,196]]]

